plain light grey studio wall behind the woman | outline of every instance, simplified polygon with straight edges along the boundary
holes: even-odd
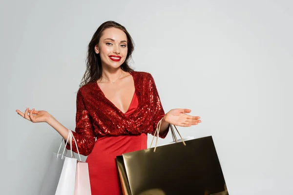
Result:
[[[74,129],[86,46],[106,20],[126,26],[136,44],[132,66],[153,75],[165,111],[189,108],[202,117],[179,129],[184,137],[213,136],[231,195],[292,194],[292,6],[2,0],[0,194],[38,194],[61,137],[15,110],[46,110]]]

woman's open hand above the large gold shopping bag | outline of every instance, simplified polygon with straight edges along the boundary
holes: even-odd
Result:
[[[201,122],[200,117],[190,116],[186,113],[190,113],[189,109],[172,109],[165,115],[165,121],[176,126],[190,127],[191,125],[197,125]]]

